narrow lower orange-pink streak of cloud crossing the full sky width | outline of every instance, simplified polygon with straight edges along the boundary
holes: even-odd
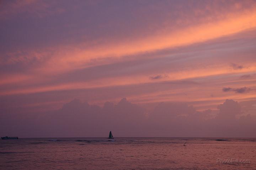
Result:
[[[167,81],[177,81],[177,80],[186,80],[189,78],[198,78],[198,77],[208,77],[208,76],[221,76],[221,75],[231,75],[234,73],[244,73],[248,71],[255,71],[256,67],[252,66],[243,70],[234,70],[231,71],[225,67],[221,69],[220,66],[216,68],[208,68],[207,71],[204,69],[194,69],[194,70],[185,70],[178,72],[165,73],[165,78],[157,80],[158,82],[167,82]],[[155,81],[154,81],[155,82]],[[149,75],[138,75],[138,76],[120,76],[120,77],[109,77],[109,78],[100,78],[92,81],[86,82],[71,82],[66,84],[57,84],[54,86],[43,86],[43,87],[34,87],[34,88],[25,88],[25,89],[16,89],[11,91],[5,91],[0,93],[0,95],[7,94],[22,94],[22,93],[38,93],[46,91],[63,91],[71,89],[86,89],[86,88],[102,88],[102,87],[111,87],[111,86],[127,86],[133,84],[143,84],[143,83],[152,83],[152,80],[149,79]]]

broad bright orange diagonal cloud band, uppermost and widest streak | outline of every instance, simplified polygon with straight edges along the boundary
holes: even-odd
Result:
[[[230,16],[222,21],[194,25],[171,32],[163,31],[163,33],[130,42],[107,43],[85,50],[83,44],[63,46],[63,49],[59,49],[46,63],[42,71],[66,72],[78,68],[109,64],[110,62],[127,60],[122,56],[204,42],[252,28],[256,28],[256,10],[245,12],[242,15]],[[109,58],[114,58],[114,60],[109,61]]]

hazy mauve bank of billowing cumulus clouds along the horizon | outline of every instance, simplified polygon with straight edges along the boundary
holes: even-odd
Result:
[[[59,110],[45,113],[28,115],[5,110],[5,114],[0,114],[0,134],[8,132],[21,137],[103,137],[111,130],[114,136],[254,135],[254,117],[244,116],[240,103],[227,99],[218,109],[217,112],[209,109],[197,111],[186,103],[163,102],[147,110],[126,98],[117,104],[106,102],[101,107],[74,99]],[[240,119],[236,119],[238,115]],[[238,131],[232,133],[234,128]]]

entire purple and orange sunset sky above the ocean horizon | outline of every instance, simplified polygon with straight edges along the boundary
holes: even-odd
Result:
[[[0,135],[110,130],[256,137],[256,1],[0,1]]]

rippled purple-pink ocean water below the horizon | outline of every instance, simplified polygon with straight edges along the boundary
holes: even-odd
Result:
[[[256,138],[216,139],[116,137],[113,140],[0,140],[0,169],[256,169]],[[183,146],[185,142],[187,146]]]

